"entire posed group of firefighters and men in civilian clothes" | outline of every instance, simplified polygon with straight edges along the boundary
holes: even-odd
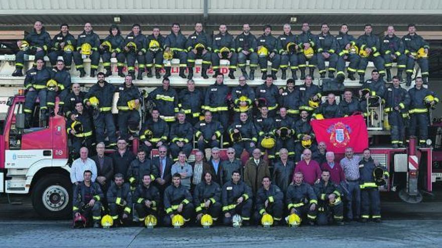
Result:
[[[368,149],[357,156],[348,147],[345,158],[335,161],[325,143],[316,143],[310,120],[367,116],[370,99],[377,97],[388,115],[392,147],[404,147],[409,136],[418,136],[418,144],[426,147],[428,113],[439,100],[428,85],[424,87],[429,46],[415,33],[415,25],[408,26],[403,38],[389,26],[381,39],[371,25],[365,25],[365,33],[357,39],[347,34],[346,24],[336,37],[330,35],[327,24],[319,35],[310,33],[308,23],[302,24],[299,35],[285,24],[277,38],[268,25],[258,38],[248,24],[236,38],[224,24],[213,36],[203,31],[201,23],[194,29],[187,38],[179,24],[172,25],[167,37],[157,27],[145,36],[134,24],[123,38],[118,26],[112,25],[101,42],[90,23],[77,39],[62,24],[51,40],[37,21],[34,31],[17,43],[20,52],[13,76],[23,76],[25,54],[35,55],[34,67],[25,77],[27,128],[46,125],[48,116],[66,118],[75,159],[71,169],[74,225],[118,226],[133,219],[143,226],[175,227],[195,221],[203,226],[341,225],[344,220],[365,222],[370,217],[380,221],[378,187],[385,184],[388,173]],[[52,69],[45,66],[46,55]],[[91,60],[90,76],[96,76],[97,83],[82,92],[79,84],[71,83],[69,70],[73,59],[84,77],[85,57]],[[100,57],[105,73],[97,72]],[[124,78],[118,86],[105,80],[112,75],[111,58],[117,59],[118,75]],[[188,79],[184,89],[170,86],[174,58],[179,59],[179,76]],[[202,78],[208,79],[207,70],[212,67],[213,85],[195,87],[197,59],[202,59]],[[230,79],[235,79],[237,67],[241,70],[237,86],[224,84],[220,60],[229,60]],[[369,61],[376,69],[366,80]],[[358,74],[362,87],[357,92],[344,91],[337,104],[334,93],[313,84],[313,74],[317,67],[320,78],[343,83],[346,62],[350,62],[347,77],[356,80]],[[393,62],[397,63],[394,76]],[[411,85],[415,62],[421,77],[415,77],[414,87],[407,91],[400,84]],[[252,88],[247,81],[255,80],[258,65],[264,83]],[[291,77],[287,79],[288,68]],[[281,88],[273,84],[279,70],[286,80]],[[295,86],[298,70],[304,83]],[[149,93],[139,90],[133,82],[144,74],[149,78],[155,74],[162,86]],[[116,92],[118,114],[114,115]],[[37,97],[39,124],[34,118]],[[140,140],[137,154],[128,149],[134,139]],[[106,147],[116,150],[106,156]],[[224,161],[220,147],[229,147]],[[159,156],[151,158],[152,151]],[[245,165],[240,160],[243,152],[250,156]],[[188,163],[191,153],[195,161]]]

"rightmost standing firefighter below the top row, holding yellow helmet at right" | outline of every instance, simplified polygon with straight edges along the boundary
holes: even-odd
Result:
[[[434,105],[439,102],[435,92],[423,88],[423,80],[417,77],[415,86],[408,90],[410,95],[410,107],[408,113],[410,114],[409,135],[416,136],[416,129],[419,130],[419,145],[426,147],[426,139],[428,138],[428,106],[425,104],[425,97],[432,96],[433,100],[429,102],[429,107],[434,108]]]

